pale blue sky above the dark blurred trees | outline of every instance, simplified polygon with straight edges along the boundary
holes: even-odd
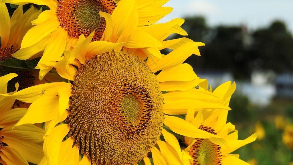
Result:
[[[170,0],[164,6],[172,7],[173,11],[160,22],[202,15],[211,26],[244,24],[253,30],[280,19],[293,32],[292,0]]]

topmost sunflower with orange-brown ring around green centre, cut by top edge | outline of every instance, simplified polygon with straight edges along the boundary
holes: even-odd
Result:
[[[150,29],[142,28],[171,12],[172,8],[162,7],[167,1],[120,0],[116,3],[115,0],[5,0],[11,4],[35,3],[50,8],[32,21],[36,26],[25,34],[21,50],[13,56],[24,60],[44,51],[36,66],[36,69],[40,69],[39,78],[42,79],[56,66],[57,61],[63,59],[64,50],[75,49],[77,43],[93,32],[92,41],[103,41],[106,46],[109,44],[106,41],[117,43],[143,55],[161,58],[161,41],[171,33],[187,35],[180,27],[183,19],[150,26]],[[163,32],[163,36],[159,32]],[[79,65],[71,58],[69,63]]]

